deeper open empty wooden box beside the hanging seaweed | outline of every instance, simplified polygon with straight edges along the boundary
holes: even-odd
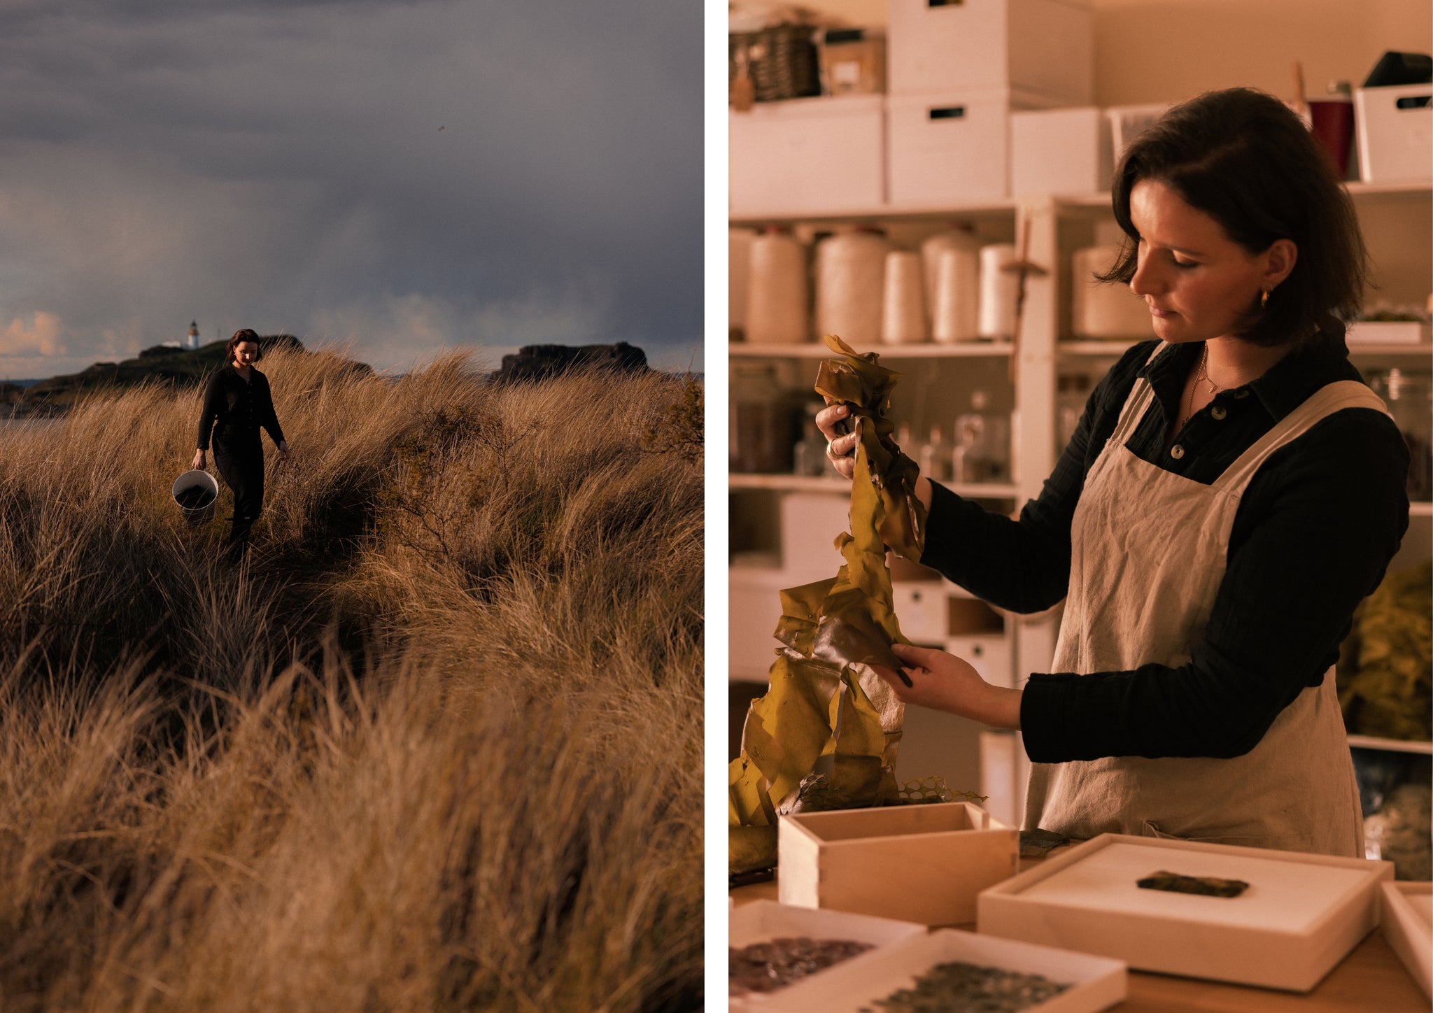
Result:
[[[781,817],[782,904],[949,926],[1019,870],[1016,830],[970,802]]]

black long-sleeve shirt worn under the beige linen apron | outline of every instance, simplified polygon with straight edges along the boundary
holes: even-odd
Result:
[[[1069,585],[1070,517],[1135,378],[1155,403],[1126,443],[1142,460],[1212,483],[1311,393],[1361,380],[1343,328],[1323,331],[1252,383],[1219,391],[1166,448],[1185,377],[1202,345],[1131,348],[1091,394],[1075,437],[1019,520],[987,513],[933,483],[921,563],[1013,612],[1060,602]],[[1221,408],[1222,411],[1215,411]],[[1204,639],[1178,668],[1035,673],[1020,728],[1036,762],[1099,757],[1238,757],[1338,656],[1354,606],[1383,579],[1409,524],[1409,453],[1380,411],[1348,408],[1271,454],[1234,514],[1228,569]]]

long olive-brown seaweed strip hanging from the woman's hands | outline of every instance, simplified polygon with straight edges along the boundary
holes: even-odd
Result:
[[[886,552],[920,559],[919,469],[887,418],[898,374],[876,352],[857,354],[834,335],[825,342],[840,358],[821,364],[815,388],[851,407],[858,440],[851,530],[835,539],[845,565],[835,577],[781,592],[775,636],[785,646],[770,689],[747,712],[742,752],[728,769],[731,873],[775,864],[781,812],[900,801],[903,708],[873,666],[903,671],[890,645],[909,640],[896,622]]]

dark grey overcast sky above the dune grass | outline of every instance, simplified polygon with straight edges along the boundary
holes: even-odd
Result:
[[[696,0],[0,0],[0,378],[239,327],[701,368]]]

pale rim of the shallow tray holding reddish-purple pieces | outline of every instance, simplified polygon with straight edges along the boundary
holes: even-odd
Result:
[[[758,1013],[758,1010],[771,1009],[771,1000],[775,996],[782,996],[792,989],[805,989],[811,983],[820,981],[837,967],[845,967],[856,960],[870,959],[883,953],[893,943],[901,943],[924,934],[926,926],[917,926],[913,921],[896,921],[894,918],[877,918],[870,914],[814,911],[810,907],[791,907],[788,904],[778,904],[774,900],[755,900],[749,904],[742,904],[731,911],[731,921],[727,926],[727,941],[737,949],[787,936],[848,938],[858,943],[874,943],[876,949],[860,953],[850,960],[843,960],[840,964],[833,964],[827,970],[808,974],[777,992],[729,996],[728,1013]],[[798,992],[797,994],[800,996],[801,993]]]

